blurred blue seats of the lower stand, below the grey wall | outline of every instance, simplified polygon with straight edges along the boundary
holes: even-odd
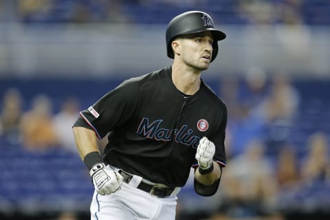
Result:
[[[214,91],[218,91],[217,80],[219,79],[208,80],[212,82],[210,86],[214,87]],[[24,107],[28,109],[34,95],[42,91],[54,101],[54,107],[57,106],[54,109],[54,113],[56,113],[59,103],[66,96],[80,98],[81,108],[85,109],[119,82],[120,79],[108,82],[54,79],[1,80],[0,94],[3,94],[6,88],[16,85],[23,92]],[[318,80],[296,80],[294,86],[298,89],[302,102],[294,127],[290,130],[288,141],[296,146],[301,159],[307,153],[306,141],[309,134],[314,131],[330,133],[330,98],[327,96],[329,83]],[[93,88],[93,92],[91,93],[87,91],[89,89],[85,88]],[[93,186],[85,165],[78,154],[67,152],[62,148],[54,146],[45,151],[26,151],[19,141],[13,141],[12,137],[1,136],[0,173],[0,204],[6,204],[0,206],[5,208],[1,211],[8,211],[10,208],[13,210],[61,210],[63,208],[80,210],[82,207],[89,206]],[[322,203],[329,202],[327,196],[322,196],[322,192],[329,192],[329,184],[316,184],[313,187],[318,188],[314,191],[323,198]],[[310,186],[287,199],[300,201],[303,197],[307,199],[308,203],[309,199],[312,199],[308,189]],[[183,197],[193,195],[190,190],[192,188],[183,190]],[[290,194],[284,194],[284,198],[288,195]],[[79,204],[84,204],[85,207],[77,206],[76,201],[80,201]],[[40,205],[41,203],[43,206]],[[292,202],[292,206],[294,206],[294,202]]]

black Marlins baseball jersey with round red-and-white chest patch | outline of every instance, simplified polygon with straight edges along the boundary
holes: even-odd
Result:
[[[89,109],[74,126],[109,133],[104,162],[170,187],[186,184],[201,137],[214,142],[214,160],[225,166],[225,104],[201,80],[185,96],[173,84],[171,67],[125,80]]]

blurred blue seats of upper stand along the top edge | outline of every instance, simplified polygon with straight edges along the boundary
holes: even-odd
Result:
[[[119,1],[118,1],[119,2]],[[120,10],[122,16],[126,17],[131,23],[168,23],[175,15],[187,10],[204,10],[212,15],[217,23],[229,25],[246,25],[250,21],[247,17],[242,16],[239,4],[243,1],[216,1],[206,0],[203,3],[184,3],[173,4],[173,1],[120,1]],[[250,1],[253,3],[254,1]],[[272,11],[281,10],[281,4],[289,4],[289,2],[281,0],[269,1],[274,8]],[[21,20],[26,23],[69,23],[75,20],[76,12],[80,7],[88,11],[85,14],[87,22],[107,21],[102,19],[107,17],[106,1],[68,1],[54,0],[52,1],[50,10],[47,12],[35,12]],[[249,2],[248,2],[249,3]],[[278,8],[279,7],[279,8]],[[326,0],[302,1],[302,3],[294,6],[301,15],[301,21],[307,25],[330,25],[330,3]],[[261,12],[263,13],[263,12]],[[270,21],[275,24],[278,21]]]

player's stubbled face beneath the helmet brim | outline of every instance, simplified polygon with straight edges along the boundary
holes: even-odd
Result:
[[[211,32],[189,34],[181,41],[181,61],[199,71],[208,69],[212,58],[212,43]]]

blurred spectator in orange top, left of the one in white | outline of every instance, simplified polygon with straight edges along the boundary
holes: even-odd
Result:
[[[21,120],[23,146],[29,150],[42,150],[58,144],[52,124],[52,103],[45,95],[34,97],[32,109]]]

